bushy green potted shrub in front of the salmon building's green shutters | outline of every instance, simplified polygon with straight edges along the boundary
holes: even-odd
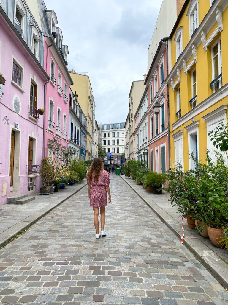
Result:
[[[162,185],[164,181],[164,173],[158,174],[154,171],[150,171],[143,182],[143,187],[147,189],[147,192],[152,192],[153,194],[162,194]]]

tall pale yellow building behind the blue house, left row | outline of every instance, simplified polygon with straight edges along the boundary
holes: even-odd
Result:
[[[74,84],[71,90],[78,94],[78,102],[82,111],[87,117],[87,144],[86,144],[86,160],[92,159],[92,132],[93,132],[93,91],[87,73],[79,74],[74,70],[69,70]]]

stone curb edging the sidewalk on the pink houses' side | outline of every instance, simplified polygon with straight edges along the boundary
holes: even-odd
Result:
[[[54,210],[57,206],[64,203],[67,199],[71,196],[74,196],[77,192],[79,192],[82,188],[87,185],[82,185],[77,190],[72,190],[70,194],[68,194],[65,198],[56,199],[55,203],[50,203],[43,209],[33,213],[32,215],[25,218],[23,221],[18,222],[17,224],[13,225],[9,229],[5,230],[3,233],[0,234],[0,249],[4,246],[6,242],[9,242],[10,239],[15,235],[18,234],[20,231],[24,231],[39,221],[42,217],[47,215],[50,211]]]

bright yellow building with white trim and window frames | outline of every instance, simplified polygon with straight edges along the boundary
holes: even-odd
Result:
[[[228,1],[186,0],[170,35],[171,167],[206,162],[217,150],[208,132],[226,121],[228,110]]]

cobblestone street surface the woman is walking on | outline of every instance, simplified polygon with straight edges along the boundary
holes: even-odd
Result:
[[[111,174],[110,187],[106,237],[95,239],[86,187],[0,250],[0,305],[228,303],[223,287],[119,176]]]

